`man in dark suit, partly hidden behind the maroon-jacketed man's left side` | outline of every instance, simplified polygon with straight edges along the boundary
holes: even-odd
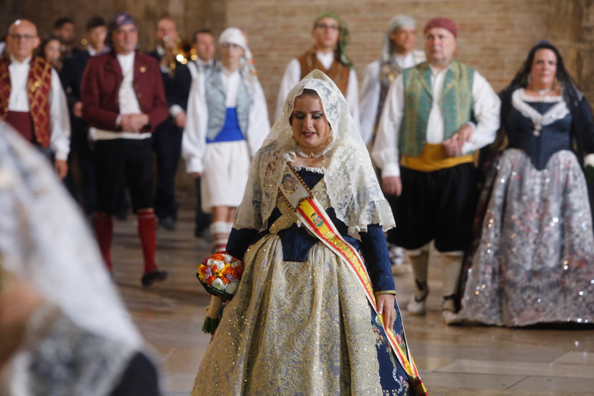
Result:
[[[68,158],[68,168],[72,169],[72,160],[76,157],[81,174],[83,210],[87,216],[90,216],[96,210],[97,192],[95,188],[93,151],[89,143],[89,125],[81,118],[83,115],[83,102],[80,100],[80,86],[89,58],[103,54],[108,50],[105,46],[105,37],[108,30],[105,20],[100,17],[90,18],[86,30],[87,48],[64,61],[60,80],[66,92],[68,108],[70,109],[71,154]],[[75,195],[72,174],[68,174],[66,184],[72,194]]]

